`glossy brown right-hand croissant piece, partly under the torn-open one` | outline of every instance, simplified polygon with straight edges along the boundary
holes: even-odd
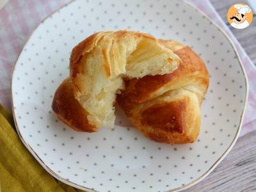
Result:
[[[172,41],[162,43],[182,60],[177,70],[163,76],[127,79],[118,104],[151,140],[192,143],[199,133],[200,104],[209,74],[204,61],[190,47]]]

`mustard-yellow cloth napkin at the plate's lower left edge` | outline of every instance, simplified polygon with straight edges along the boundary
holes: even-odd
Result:
[[[54,179],[28,152],[0,104],[0,191],[82,191]]]

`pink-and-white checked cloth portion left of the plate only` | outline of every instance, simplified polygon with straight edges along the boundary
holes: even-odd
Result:
[[[17,56],[42,19],[68,0],[10,0],[0,10],[0,102],[11,109],[10,77]]]

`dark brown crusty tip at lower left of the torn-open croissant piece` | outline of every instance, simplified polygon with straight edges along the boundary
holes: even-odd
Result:
[[[88,114],[74,98],[70,78],[65,79],[56,90],[52,110],[61,121],[76,131],[97,131],[96,127],[88,123]]]

